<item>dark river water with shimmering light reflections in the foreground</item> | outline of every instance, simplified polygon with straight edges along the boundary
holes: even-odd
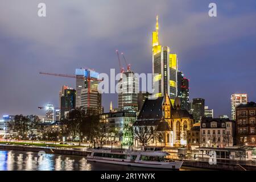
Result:
[[[107,171],[107,170],[157,170],[115,164],[88,163],[84,156],[43,154],[26,151],[0,150],[0,171]],[[181,171],[202,170],[183,167]]]

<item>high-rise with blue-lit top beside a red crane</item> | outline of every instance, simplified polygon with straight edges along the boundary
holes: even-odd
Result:
[[[76,69],[76,108],[101,113],[101,93],[98,92],[98,73],[91,69]]]

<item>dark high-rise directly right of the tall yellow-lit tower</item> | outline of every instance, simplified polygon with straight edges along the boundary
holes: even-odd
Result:
[[[181,101],[181,109],[189,110],[189,80],[181,71],[177,72],[177,96]]]

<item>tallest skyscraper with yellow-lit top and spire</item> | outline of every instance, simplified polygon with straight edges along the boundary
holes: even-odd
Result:
[[[158,30],[156,16],[156,30],[152,32],[153,97],[163,97],[167,93],[174,104],[177,96],[177,55],[170,53],[169,47],[159,44]]]

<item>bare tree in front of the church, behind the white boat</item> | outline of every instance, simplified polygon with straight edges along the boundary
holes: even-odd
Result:
[[[156,128],[153,126],[135,126],[133,130],[133,137],[138,140],[142,146],[145,146],[156,134]]]

